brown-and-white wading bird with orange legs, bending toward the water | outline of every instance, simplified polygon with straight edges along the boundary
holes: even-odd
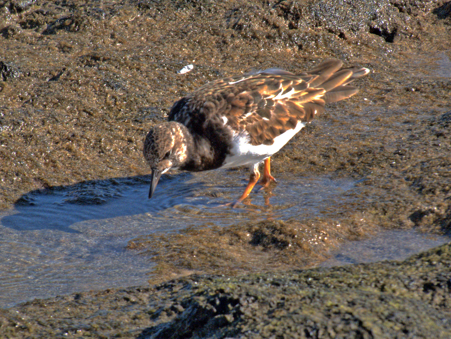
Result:
[[[367,68],[340,70],[341,60],[325,60],[308,72],[261,70],[214,80],[172,106],[168,121],[151,128],[144,142],[144,158],[152,169],[149,198],[161,174],[170,168],[206,171],[248,166],[249,184],[232,204],[244,200],[258,179],[276,181],[270,157],[313,117],[357,93],[348,84],[369,73]]]

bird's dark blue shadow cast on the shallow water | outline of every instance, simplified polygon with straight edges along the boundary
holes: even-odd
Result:
[[[175,204],[191,203],[186,197],[199,189],[202,182],[185,185],[190,176],[189,173],[162,176],[158,192],[151,200],[147,198],[149,175],[89,180],[32,190],[14,203],[16,213],[1,218],[0,224],[17,231],[51,229],[80,233],[71,227],[74,223],[152,214]]]

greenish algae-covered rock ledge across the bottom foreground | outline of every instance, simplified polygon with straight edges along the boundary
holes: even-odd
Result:
[[[403,262],[192,275],[155,288],[27,302],[1,310],[0,329],[6,338],[445,339],[451,335],[450,265],[448,243]]]

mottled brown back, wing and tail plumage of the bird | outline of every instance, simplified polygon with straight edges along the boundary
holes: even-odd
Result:
[[[331,59],[297,75],[270,69],[214,80],[176,102],[168,120],[186,125],[212,145],[227,142],[243,130],[251,144],[270,145],[298,121],[309,122],[321,114],[327,102],[357,93],[347,84],[368,70],[340,70],[341,65],[340,60]]]

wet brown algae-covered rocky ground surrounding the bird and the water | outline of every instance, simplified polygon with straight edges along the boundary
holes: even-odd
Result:
[[[448,338],[449,245],[403,263],[290,267],[321,262],[340,239],[378,227],[450,232],[450,11],[449,2],[433,1],[0,5],[4,209],[31,204],[32,190],[148,174],[141,150],[149,127],[212,79],[251,68],[296,72],[328,57],[373,70],[355,81],[357,95],[329,105],[272,162],[276,177],[355,180],[352,204],[322,218],[137,237],[129,251],[157,263],[150,287],[15,306],[1,311],[0,330],[6,337]],[[188,64],[192,71],[177,74]],[[327,240],[318,250],[302,233]],[[262,265],[235,260],[240,253]],[[192,272],[225,275],[152,287]]]

